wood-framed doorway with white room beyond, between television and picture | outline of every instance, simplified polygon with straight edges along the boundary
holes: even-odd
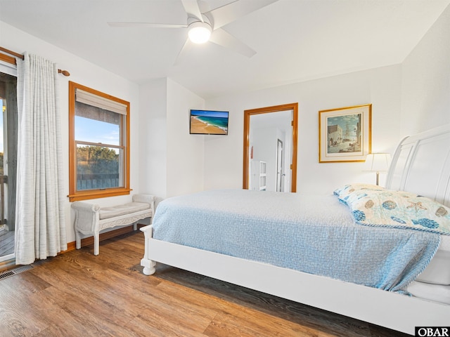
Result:
[[[262,190],[256,182],[264,174],[264,190],[296,192],[297,119],[298,103],[244,111],[244,189]],[[266,171],[255,171],[262,164]]]

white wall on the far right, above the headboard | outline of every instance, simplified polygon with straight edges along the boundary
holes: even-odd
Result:
[[[450,123],[450,6],[402,64],[401,133]]]

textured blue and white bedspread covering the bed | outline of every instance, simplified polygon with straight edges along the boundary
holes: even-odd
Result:
[[[440,242],[432,232],[358,225],[332,194],[251,190],[166,199],[156,210],[153,238],[398,292]]]

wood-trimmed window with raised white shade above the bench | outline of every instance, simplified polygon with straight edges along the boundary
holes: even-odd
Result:
[[[70,201],[129,194],[129,102],[69,82]]]

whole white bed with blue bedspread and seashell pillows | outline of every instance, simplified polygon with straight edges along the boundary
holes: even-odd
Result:
[[[162,201],[141,228],[143,273],[165,263],[410,334],[448,326],[450,233],[428,218],[402,225],[398,214],[400,226],[365,225],[353,208],[363,194],[346,191],[367,189],[426,198],[442,205],[432,216],[450,219],[450,125],[401,141],[387,191],[347,184],[337,195],[217,190]],[[409,201],[409,211],[429,205]]]

